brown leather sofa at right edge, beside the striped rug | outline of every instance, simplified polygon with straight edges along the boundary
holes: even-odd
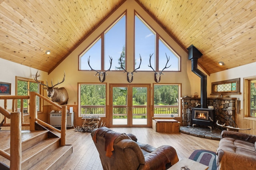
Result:
[[[256,136],[222,131],[216,163],[217,170],[256,170]]]

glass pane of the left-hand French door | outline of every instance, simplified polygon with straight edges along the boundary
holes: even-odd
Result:
[[[127,125],[127,87],[113,87],[113,125]]]

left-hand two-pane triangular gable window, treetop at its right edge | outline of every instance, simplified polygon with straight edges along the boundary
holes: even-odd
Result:
[[[112,58],[111,70],[116,70],[116,67],[120,66],[118,62],[121,53],[125,53],[125,35],[126,15],[124,14],[79,55],[79,70],[91,70],[90,66],[94,70],[108,70],[110,68],[110,57]],[[90,66],[88,65],[89,57]]]

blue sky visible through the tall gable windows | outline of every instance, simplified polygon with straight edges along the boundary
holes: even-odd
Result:
[[[111,29],[105,33],[105,69],[110,67],[110,57],[112,57],[111,70],[115,70],[115,66],[119,66],[118,59],[122,53],[122,49],[125,45],[125,17],[123,16]],[[140,69],[138,70],[152,70],[148,67],[150,54],[152,55],[151,65],[153,68],[155,64],[155,34],[136,16],[135,17],[135,68],[140,64],[140,56],[142,57],[142,63]],[[100,54],[101,53],[101,39],[99,39],[90,49],[84,53],[81,58],[82,70],[90,70],[88,66],[88,57],[90,56],[90,66],[94,70],[100,70]],[[167,59],[166,54],[170,61],[165,70],[178,70],[178,59],[173,55],[173,53],[160,41],[159,43],[159,70],[164,68]],[[132,70],[128,70],[132,71]]]

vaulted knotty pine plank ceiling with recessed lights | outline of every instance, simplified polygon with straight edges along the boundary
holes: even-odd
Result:
[[[0,0],[0,58],[51,72],[124,1]],[[208,73],[256,62],[256,0],[137,2],[184,49],[193,44]]]

